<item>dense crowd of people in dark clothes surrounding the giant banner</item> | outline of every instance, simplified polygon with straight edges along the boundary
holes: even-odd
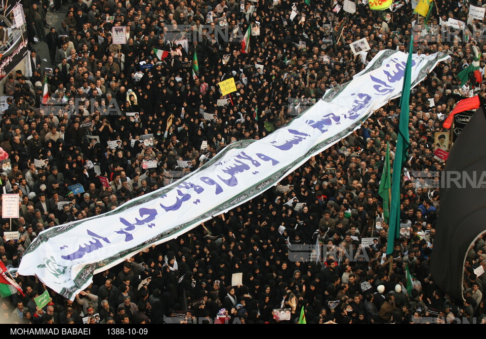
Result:
[[[25,296],[2,300],[3,322],[296,323],[301,310],[307,323],[484,322],[486,274],[474,269],[486,266],[486,233],[467,255],[465,301],[454,300],[428,268],[440,228],[438,188],[407,175],[438,176],[444,161],[434,151],[450,148],[443,119],[469,90],[486,90],[486,82],[461,87],[457,79],[475,58],[473,45],[486,50],[486,25],[468,19],[463,0],[438,2],[427,25],[404,1],[391,12],[358,0],[354,14],[329,0],[53,4],[23,0],[31,58],[38,59],[36,35],[52,65],[34,62],[30,78],[16,71],[5,84],[12,99],[1,118],[0,176],[3,193],[18,193],[21,206],[12,224],[2,220],[0,235],[18,231],[19,239],[0,238],[0,260],[13,272],[39,232],[170,185],[230,143],[264,138],[351,80],[378,51],[406,51],[414,35],[416,53],[451,59],[411,93],[395,243],[388,243],[378,189],[386,145],[391,158],[396,146],[399,99],[276,188],[96,274],[74,301],[36,277],[17,276]],[[48,10],[62,15],[59,27],[46,25]],[[453,29],[448,18],[465,25]],[[241,36],[250,26],[259,35],[244,53]],[[112,27],[127,27],[126,44],[111,43]],[[349,48],[361,38],[371,48],[364,57]],[[159,60],[153,49],[168,53]],[[237,91],[222,96],[219,83],[230,77]],[[145,168],[147,160],[156,167]],[[73,194],[74,184],[85,192]],[[387,246],[394,251],[384,258]],[[51,302],[38,309],[34,298],[46,289]]]

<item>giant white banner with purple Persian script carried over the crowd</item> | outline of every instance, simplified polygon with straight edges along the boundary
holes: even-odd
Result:
[[[415,86],[443,53],[415,56]],[[309,157],[358,129],[360,122],[400,95],[407,55],[381,51],[345,86],[268,137],[227,146],[199,170],[103,216],[41,232],[25,251],[19,273],[37,275],[66,298],[92,275],[134,253],[189,231],[275,185]]]

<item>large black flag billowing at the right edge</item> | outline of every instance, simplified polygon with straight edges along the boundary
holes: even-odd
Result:
[[[486,230],[486,109],[483,100],[451,149],[442,173],[439,196],[440,214],[430,270],[439,288],[461,301],[467,252]]]

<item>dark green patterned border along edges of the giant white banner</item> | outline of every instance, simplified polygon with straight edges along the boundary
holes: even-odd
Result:
[[[384,53],[382,53],[382,55],[373,63],[373,65],[371,67],[369,67],[365,71],[365,73],[363,73],[363,74],[366,74],[366,73],[368,73],[368,72],[370,72],[370,71],[372,71],[376,68],[381,67],[383,61],[386,58],[389,58],[394,53],[398,53],[398,52],[396,52],[396,51],[385,51]],[[442,53],[441,56],[437,55],[437,57],[435,59],[426,63],[420,69],[419,74],[418,74],[416,80],[413,83],[413,86],[416,86],[421,80],[423,80],[423,78],[427,75],[427,72],[430,69],[432,69],[435,66],[436,63],[443,61],[445,58],[447,58],[447,56]],[[334,100],[346,88],[346,86],[348,84],[349,84],[349,82],[347,84],[345,84],[344,86],[336,87],[335,89],[330,91],[329,94],[327,94],[322,100],[325,100],[327,102]],[[397,98],[397,97],[399,97],[399,95],[396,95],[395,97],[393,97],[391,99],[394,99],[394,98]],[[304,114],[304,113],[305,112],[303,112],[302,114]],[[76,293],[76,291],[85,287],[88,284],[89,279],[91,278],[91,276],[94,273],[98,273],[98,272],[96,272],[97,270],[101,271],[101,269],[103,269],[104,267],[113,265],[115,262],[118,262],[118,261],[122,260],[123,258],[130,256],[132,253],[137,253],[140,250],[147,248],[147,247],[149,247],[153,244],[163,243],[164,241],[170,240],[170,239],[176,237],[177,235],[182,234],[183,232],[187,231],[188,229],[190,229],[190,228],[192,228],[196,225],[199,225],[201,222],[209,220],[216,215],[224,213],[226,210],[228,210],[232,207],[235,207],[235,206],[237,206],[237,205],[239,205],[239,204],[241,204],[241,203],[243,203],[243,202],[245,202],[249,199],[252,199],[253,197],[255,197],[258,194],[262,193],[263,191],[267,190],[271,186],[275,185],[275,183],[278,182],[278,180],[280,180],[287,173],[293,171],[296,167],[300,166],[302,163],[307,161],[307,159],[310,156],[325,150],[326,148],[330,147],[334,143],[338,142],[342,138],[345,138],[347,135],[352,133],[352,131],[359,128],[360,123],[362,121],[366,120],[371,114],[372,114],[372,112],[369,112],[368,114],[363,115],[360,119],[354,121],[345,130],[340,131],[338,134],[331,136],[331,137],[327,138],[326,140],[323,140],[323,141],[319,142],[318,144],[314,145],[311,149],[309,149],[307,152],[305,152],[299,158],[295,159],[291,164],[287,165],[285,168],[281,168],[277,172],[272,173],[271,175],[269,175],[265,179],[259,181],[258,183],[254,184],[252,187],[248,188],[244,192],[241,192],[237,196],[234,196],[234,197],[224,201],[223,203],[219,204],[215,208],[212,208],[211,210],[207,211],[206,213],[197,216],[193,220],[186,222],[184,224],[175,226],[175,227],[173,227],[169,230],[166,230],[162,233],[159,233],[159,234],[155,235],[154,237],[152,237],[152,238],[144,241],[143,243],[137,245],[136,247],[132,247],[130,249],[120,251],[120,252],[116,253],[116,255],[110,256],[109,258],[101,260],[98,263],[93,263],[93,264],[89,264],[89,265],[84,266],[83,269],[73,279],[73,286],[70,286],[70,287],[67,287],[67,288],[66,287],[62,288],[62,290],[60,291],[60,294],[65,296],[68,299],[71,299],[73,297],[73,295]],[[290,121],[287,125],[292,124],[292,122],[294,122],[295,120],[296,119]],[[219,161],[224,155],[227,154],[228,151],[230,151],[232,149],[244,149],[248,145],[252,144],[253,142],[255,142],[255,140],[245,140],[245,141],[240,141],[240,142],[237,142],[237,143],[234,143],[234,144],[230,144],[222,152],[217,154],[213,159],[211,159],[208,163],[206,163],[205,165],[200,167],[198,170],[196,170],[192,174],[190,174],[190,175],[188,175],[184,178],[181,178],[177,182],[175,182],[175,183],[173,183],[173,184],[171,184],[171,185],[169,185],[165,188],[162,188],[158,191],[150,193],[146,196],[142,196],[140,198],[136,198],[132,201],[129,201],[126,204],[124,204],[124,205],[104,214],[104,215],[92,217],[92,218],[85,219],[85,220],[82,220],[82,221],[73,222],[73,223],[69,223],[67,225],[62,225],[62,226],[58,226],[58,227],[55,227],[55,228],[52,228],[52,229],[48,229],[45,232],[42,232],[41,234],[39,234],[39,236],[31,243],[29,248],[26,250],[26,252],[24,253],[24,256],[26,254],[32,252],[36,248],[38,248],[38,246],[41,245],[43,242],[47,242],[49,239],[52,239],[53,237],[55,237],[57,235],[61,235],[61,234],[65,233],[66,231],[69,231],[70,229],[83,224],[86,221],[91,221],[91,220],[97,219],[97,218],[103,218],[105,216],[110,216],[110,215],[113,215],[113,214],[116,215],[120,212],[123,212],[123,211],[129,209],[129,208],[136,207],[136,206],[141,205],[143,203],[146,203],[146,202],[152,201],[156,198],[162,197],[165,194],[167,194],[167,192],[169,192],[174,187],[176,187],[180,182],[187,180],[188,178],[195,175],[199,171],[204,170],[205,168],[207,168],[207,167],[213,165],[215,162]],[[72,270],[72,267],[70,267],[69,269]]]

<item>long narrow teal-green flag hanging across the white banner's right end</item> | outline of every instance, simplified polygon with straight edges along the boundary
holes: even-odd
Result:
[[[407,67],[403,76],[403,87],[401,90],[400,101],[400,122],[398,123],[398,139],[395,149],[395,160],[393,161],[393,178],[391,184],[391,201],[390,201],[390,226],[388,228],[388,244],[386,254],[393,253],[393,243],[398,237],[400,227],[400,183],[401,170],[403,163],[407,161],[407,149],[409,147],[409,101],[410,91],[412,89],[412,51],[414,48],[413,35],[410,38],[409,56],[407,58]]]

